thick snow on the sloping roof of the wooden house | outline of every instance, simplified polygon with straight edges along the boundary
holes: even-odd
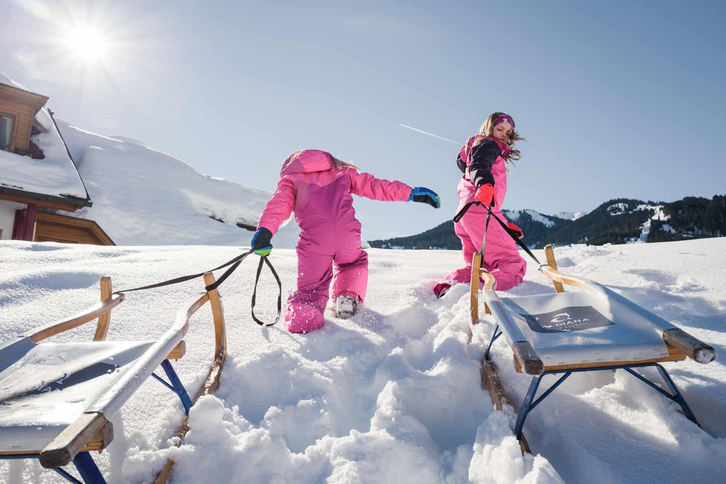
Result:
[[[3,73],[0,73],[0,83],[28,91]],[[40,128],[41,133],[30,140],[43,150],[45,158],[33,160],[28,156],[0,151],[0,193],[90,206],[86,187],[47,107],[38,111],[33,124]]]

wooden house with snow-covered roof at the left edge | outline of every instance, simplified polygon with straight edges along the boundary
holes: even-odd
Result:
[[[47,100],[0,75],[0,240],[114,245],[64,214],[92,204]]]

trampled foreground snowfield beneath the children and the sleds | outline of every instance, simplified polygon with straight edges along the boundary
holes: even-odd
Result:
[[[118,290],[203,271],[239,252],[0,242],[0,340],[96,303],[102,275],[113,276]],[[544,260],[542,251],[535,253]],[[522,456],[511,431],[515,412],[494,411],[481,388],[492,316],[480,308],[481,324],[472,331],[468,287],[454,286],[441,300],[431,293],[436,279],[460,266],[460,253],[372,249],[369,255],[362,310],[340,320],[329,309],[325,327],[309,335],[251,321],[256,263],[243,263],[220,289],[229,355],[219,390],[193,407],[191,430],[177,448],[171,437],[183,413],[179,399],[156,382],[142,385],[113,418],[111,446],[93,454],[109,482],[150,482],[168,456],[176,462],[174,484],[722,480],[726,368],[719,359],[664,364],[703,430],[627,372],[573,374],[529,415],[524,433],[534,456]],[[561,271],[608,285],[726,355],[726,239],[573,245],[556,255]],[[295,252],[276,248],[271,260],[286,297],[294,287]],[[201,289],[197,280],[127,294],[113,311],[108,339],[158,337]],[[277,313],[276,290],[265,272],[256,306],[262,319]],[[501,295],[544,292],[552,284],[530,263],[525,282]],[[190,393],[211,363],[212,326],[205,306],[192,318],[187,355],[174,364]],[[90,323],[52,340],[90,341],[94,330]],[[515,373],[504,338],[492,357],[518,407],[530,378]],[[2,480],[58,482],[34,461],[0,461]]]

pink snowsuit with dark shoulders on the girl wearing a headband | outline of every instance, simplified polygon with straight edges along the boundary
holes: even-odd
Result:
[[[460,168],[464,171],[464,176],[459,182],[459,186],[457,186],[460,198],[457,213],[464,205],[474,200],[476,186],[471,180],[469,168],[472,163],[473,144],[478,139],[483,138],[486,138],[486,136],[472,136],[459,152]],[[507,219],[502,216],[501,209],[505,194],[507,194],[507,168],[504,157],[509,152],[510,147],[497,139],[491,141],[494,141],[499,147],[499,155],[497,155],[491,166],[495,193],[495,205],[492,207],[492,213],[499,217],[502,222],[507,223]],[[466,266],[441,279],[441,283],[455,284],[456,282],[462,282],[469,284],[471,281],[471,260],[474,253],[481,250],[481,240],[484,239],[487,213],[486,208],[480,205],[471,205],[465,216],[457,223],[454,223],[454,232],[461,239],[462,254]],[[497,290],[511,289],[522,282],[527,268],[527,263],[519,255],[514,240],[499,226],[494,218],[489,220],[489,228],[486,229],[484,268],[492,273],[494,279],[497,279]]]

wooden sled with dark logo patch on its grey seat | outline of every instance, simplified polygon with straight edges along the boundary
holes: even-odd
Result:
[[[678,403],[685,417],[698,424],[685,398],[660,363],[692,358],[698,363],[709,364],[716,358],[714,348],[603,284],[560,273],[552,247],[548,246],[545,253],[547,265],[540,266],[539,271],[552,279],[555,294],[500,299],[494,276],[480,268],[480,253],[474,254],[472,266],[472,323],[478,323],[480,276],[484,280],[481,294],[487,313],[491,311],[497,321],[482,361],[483,383],[492,397],[494,409],[510,404],[499,381],[497,367],[489,358],[494,340],[504,335],[514,353],[516,371],[532,375],[515,424],[515,435],[520,439],[523,451],[529,452],[522,434],[527,415],[576,372],[624,369]],[[563,284],[581,290],[564,292]],[[646,366],[658,370],[669,391],[636,371]],[[546,374],[563,375],[535,399]]]

